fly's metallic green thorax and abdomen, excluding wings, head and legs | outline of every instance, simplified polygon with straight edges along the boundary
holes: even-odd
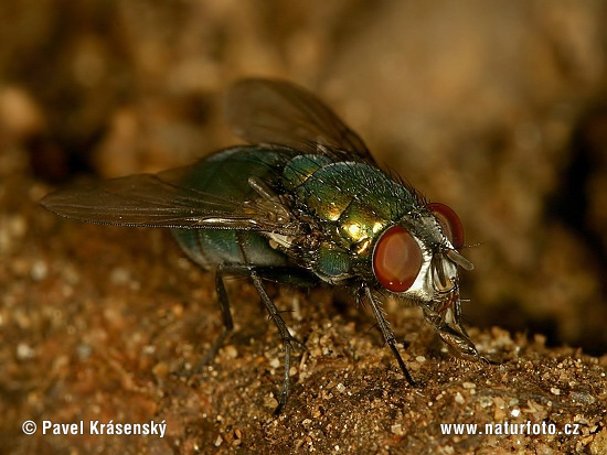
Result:
[[[257,230],[174,229],[198,263],[298,266],[323,281],[345,284],[354,277],[369,278],[380,234],[419,204],[406,186],[364,162],[290,149],[224,150],[194,165],[187,184],[217,197],[256,201],[260,196],[249,184],[252,176],[267,183],[307,229],[283,237]]]

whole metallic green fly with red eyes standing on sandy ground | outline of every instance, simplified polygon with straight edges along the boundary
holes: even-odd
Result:
[[[456,213],[427,203],[382,171],[364,142],[328,107],[289,83],[245,79],[232,87],[226,116],[249,145],[194,164],[47,195],[42,205],[81,221],[170,228],[185,254],[215,270],[224,329],[211,360],[233,331],[223,278],[247,275],[285,349],[276,414],[287,403],[291,336],[264,282],[345,286],[371,305],[403,375],[414,386],[382,308],[393,295],[414,302],[451,353],[482,359],[461,325]]]

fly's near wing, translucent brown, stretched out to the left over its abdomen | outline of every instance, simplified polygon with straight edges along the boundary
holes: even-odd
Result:
[[[51,193],[41,204],[65,218],[105,225],[288,230],[285,223],[276,221],[267,204],[238,202],[183,186],[180,182],[189,172],[190,166],[185,166],[105,180]]]

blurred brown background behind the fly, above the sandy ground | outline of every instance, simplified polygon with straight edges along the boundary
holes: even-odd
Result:
[[[271,76],[456,209],[467,324],[603,354],[606,23],[601,1],[1,2],[0,280],[35,232],[25,205],[235,143],[222,95]]]

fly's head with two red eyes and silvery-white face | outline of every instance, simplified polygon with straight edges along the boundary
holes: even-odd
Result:
[[[472,269],[458,252],[462,246],[464,227],[456,213],[444,204],[428,204],[380,236],[373,273],[387,291],[447,317],[449,307],[459,303],[458,267]]]

